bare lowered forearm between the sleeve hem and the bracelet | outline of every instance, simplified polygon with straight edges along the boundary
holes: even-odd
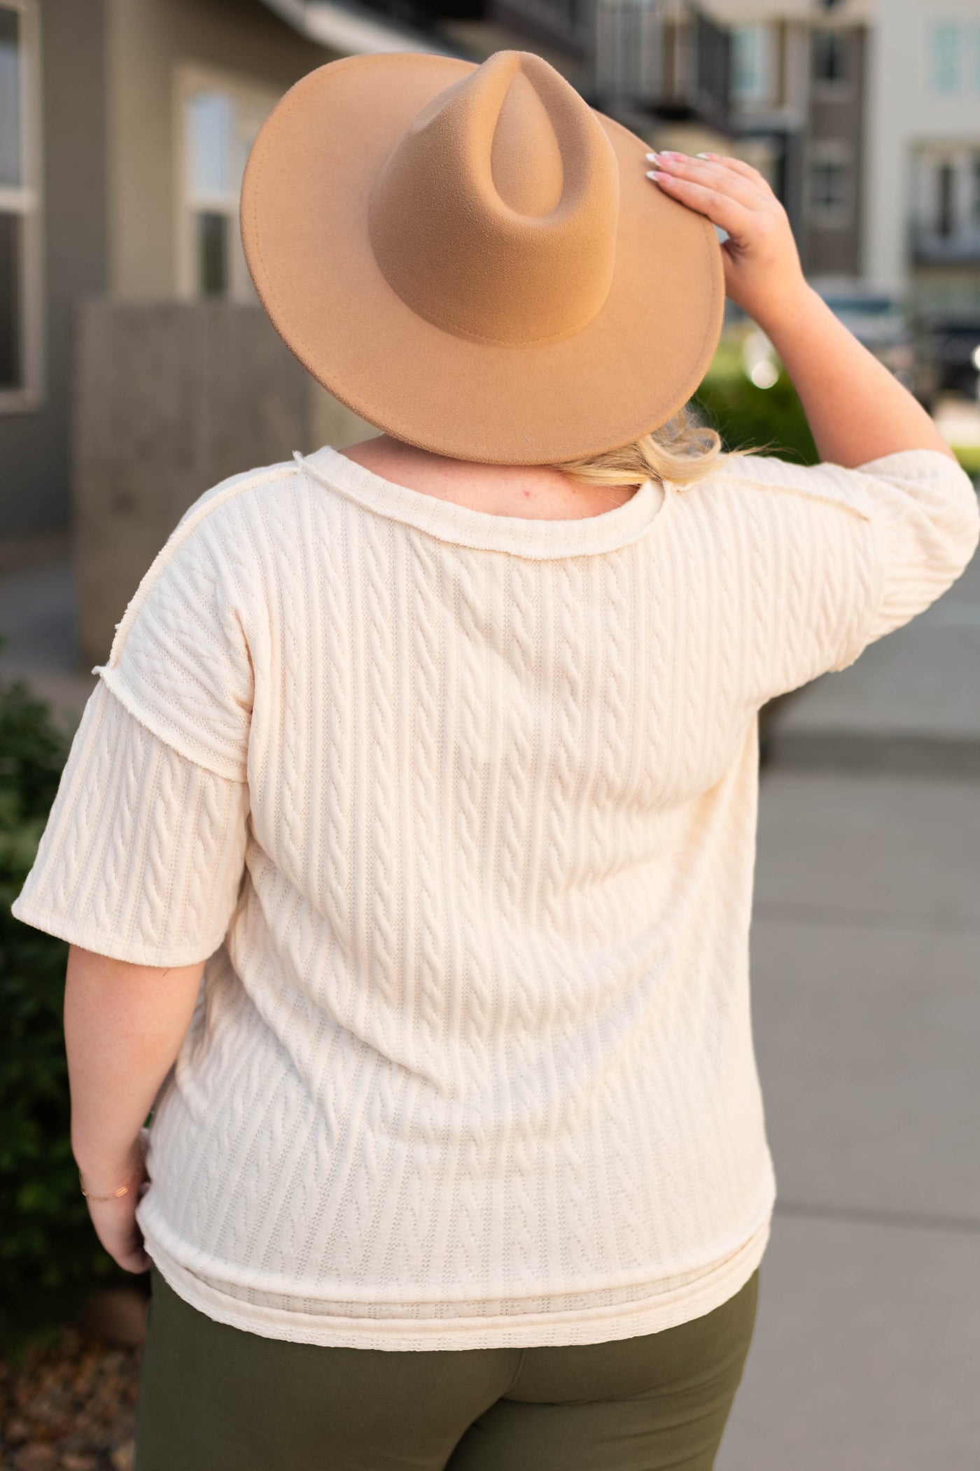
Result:
[[[96,1193],[113,1190],[132,1169],[140,1128],[187,1033],[202,971],[203,962],[163,969],[69,950],[72,1150]]]

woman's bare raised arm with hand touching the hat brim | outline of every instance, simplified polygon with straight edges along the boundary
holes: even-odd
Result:
[[[727,231],[725,290],[783,359],[823,460],[845,468],[899,450],[955,457],[912,394],[808,285],[786,210],[750,165],[647,154],[664,193]]]

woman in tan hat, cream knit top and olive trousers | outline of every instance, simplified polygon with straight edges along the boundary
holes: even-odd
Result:
[[[761,175],[649,162],[515,51],[331,63],[253,149],[259,296],[386,432],[191,507],[15,906],[153,1264],[138,1471],[714,1465],[774,1197],[756,715],[979,522]],[[722,288],[824,463],[686,421]]]

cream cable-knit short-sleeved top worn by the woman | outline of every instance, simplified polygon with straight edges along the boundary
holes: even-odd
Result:
[[[774,1200],[756,712],[924,609],[977,534],[926,450],[730,459],[580,521],[331,447],[203,496],[13,911],[209,958],[138,1209],[175,1292],[371,1349],[594,1343],[733,1296]]]

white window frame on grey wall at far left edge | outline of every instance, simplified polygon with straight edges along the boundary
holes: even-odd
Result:
[[[0,212],[21,219],[21,382],[0,387],[0,413],[34,413],[46,396],[41,22],[38,0],[0,0],[19,16],[21,184],[0,184]]]

